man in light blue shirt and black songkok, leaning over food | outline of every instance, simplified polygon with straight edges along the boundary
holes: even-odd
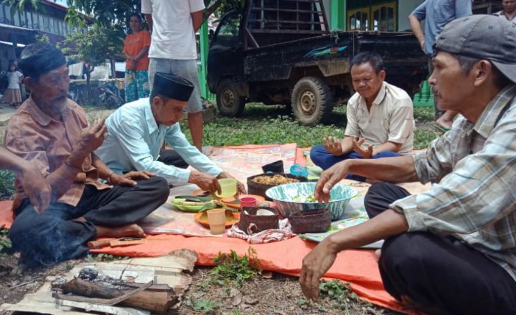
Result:
[[[190,145],[178,123],[192,91],[185,78],[157,72],[149,99],[127,103],[106,119],[108,136],[95,154],[118,174],[151,171],[174,186],[193,183],[220,192],[217,178],[230,175]],[[174,150],[160,150],[164,140]],[[244,185],[238,190],[245,193]]]

